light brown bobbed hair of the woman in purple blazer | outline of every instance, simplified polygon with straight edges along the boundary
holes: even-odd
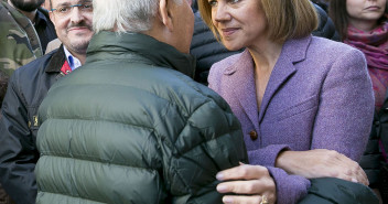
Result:
[[[317,13],[310,0],[256,0],[270,25],[268,35],[274,42],[303,37],[311,34],[319,24]],[[212,7],[207,0],[198,0],[201,15],[214,35],[219,34],[212,22]]]

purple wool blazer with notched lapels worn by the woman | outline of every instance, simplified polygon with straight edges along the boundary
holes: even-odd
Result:
[[[254,61],[246,50],[212,66],[209,87],[241,122],[251,164],[265,165],[278,204],[297,203],[310,186],[273,168],[282,150],[336,150],[355,161],[365,150],[374,95],[364,54],[346,44],[308,36],[284,43],[257,107]]]

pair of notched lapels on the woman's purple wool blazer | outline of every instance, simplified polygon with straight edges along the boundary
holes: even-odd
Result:
[[[229,68],[225,69],[228,75],[228,83],[234,85],[234,94],[238,98],[244,111],[249,117],[255,128],[259,129],[266,115],[271,98],[279,88],[297,72],[295,63],[305,58],[311,36],[300,40],[288,41],[282,49],[279,61],[276,63],[262,98],[260,112],[256,99],[256,85],[254,78],[254,61],[248,50],[241,53],[240,57]]]

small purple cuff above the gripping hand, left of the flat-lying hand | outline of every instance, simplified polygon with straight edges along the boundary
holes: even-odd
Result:
[[[283,150],[290,150],[287,144],[272,144],[266,148],[248,151],[250,164],[274,167],[278,154]]]

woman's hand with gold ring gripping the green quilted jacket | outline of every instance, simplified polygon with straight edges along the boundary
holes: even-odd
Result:
[[[225,195],[223,197],[224,203],[258,204],[263,196],[268,201],[267,203],[276,203],[276,184],[265,167],[240,163],[239,167],[218,172],[217,180],[224,181],[217,185],[219,193],[241,194]]]

